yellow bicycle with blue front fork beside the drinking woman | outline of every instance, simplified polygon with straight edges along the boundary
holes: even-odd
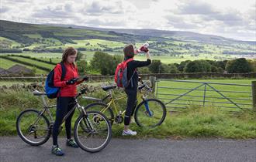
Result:
[[[140,98],[142,101],[137,105],[135,104],[134,120],[139,127],[157,127],[164,122],[166,116],[166,107],[161,100],[154,98],[147,99],[152,93],[152,89],[147,83],[144,83],[142,79],[139,79],[142,84],[138,89],[140,91]],[[94,100],[95,103],[91,103],[85,106],[85,110],[99,110],[104,113],[111,125],[115,123],[123,123],[125,110],[121,111],[116,106],[116,100],[123,100],[126,96],[120,96],[116,99],[112,96],[112,89],[116,89],[116,86],[103,86],[102,89],[106,91],[107,96],[103,99],[98,99],[90,96],[83,96],[83,99]],[[139,97],[138,97],[139,98]],[[113,106],[113,108],[112,108]],[[115,113],[114,113],[115,112]]]

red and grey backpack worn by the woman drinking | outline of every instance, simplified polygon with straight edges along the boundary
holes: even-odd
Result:
[[[115,82],[119,87],[126,88],[129,86],[130,80],[133,78],[133,76],[130,77],[130,80],[127,78],[127,63],[130,61],[133,61],[133,58],[127,59],[116,66]]]

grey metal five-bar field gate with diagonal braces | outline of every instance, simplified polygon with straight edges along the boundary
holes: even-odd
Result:
[[[171,110],[189,106],[252,110],[251,85],[248,84],[157,79],[156,95]]]

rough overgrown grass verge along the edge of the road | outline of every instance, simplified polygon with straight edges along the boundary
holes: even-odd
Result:
[[[209,81],[209,80],[208,80]],[[240,80],[247,82],[246,80]],[[230,80],[227,82],[230,82]],[[102,98],[106,95],[102,89],[88,93],[88,96]],[[114,91],[114,96],[123,95],[119,90]],[[56,100],[48,100],[55,104]],[[81,105],[86,106],[88,100],[79,99]],[[120,101],[119,106],[125,108],[126,100]],[[16,136],[16,117],[22,110],[35,108],[41,110],[42,101],[40,97],[21,89],[8,89],[0,93],[0,135]],[[55,114],[55,109],[51,112]],[[169,109],[168,109],[169,112]],[[72,124],[78,116],[74,114]],[[164,123],[154,129],[144,129],[131,124],[133,130],[137,130],[135,138],[157,137],[157,138],[183,138],[183,137],[224,137],[234,139],[256,138],[256,115],[249,111],[237,113],[236,115],[225,113],[213,107],[201,109],[196,106],[188,106],[182,113],[167,114]],[[112,127],[113,137],[121,137],[123,123],[114,124]],[[64,131],[61,133],[64,136]]]

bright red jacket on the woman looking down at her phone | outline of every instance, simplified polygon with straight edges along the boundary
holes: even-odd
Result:
[[[61,81],[61,64],[58,63],[57,66],[55,66],[54,86],[61,87],[59,96],[76,96],[77,85],[82,82],[75,83],[74,85],[67,85],[66,81],[78,77],[78,67],[74,66],[72,63],[64,63],[64,66],[66,68],[66,75],[63,81]]]

